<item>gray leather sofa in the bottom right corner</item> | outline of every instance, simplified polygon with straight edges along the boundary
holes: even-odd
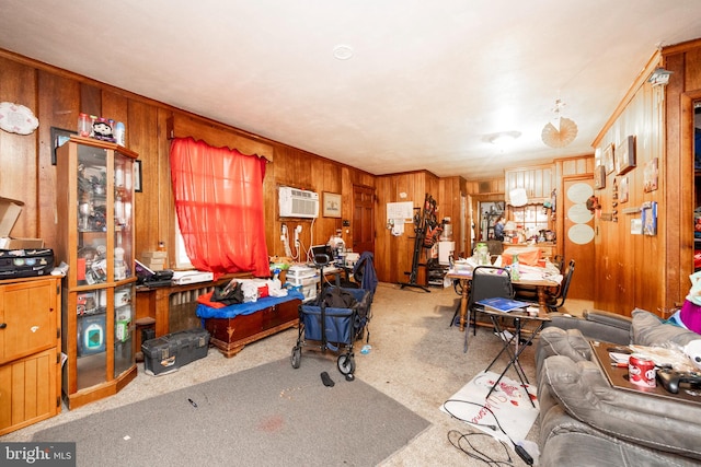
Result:
[[[701,465],[701,404],[611,387],[589,340],[683,347],[701,336],[635,310],[632,318],[553,315],[536,353],[541,466]]]

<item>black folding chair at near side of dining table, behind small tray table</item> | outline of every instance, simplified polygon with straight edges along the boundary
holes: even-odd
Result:
[[[464,351],[468,351],[468,334],[470,323],[473,326],[473,336],[476,336],[476,314],[484,310],[478,302],[484,299],[513,299],[514,287],[512,277],[505,268],[496,266],[478,266],[472,271],[470,297],[468,300],[468,329],[464,331]]]

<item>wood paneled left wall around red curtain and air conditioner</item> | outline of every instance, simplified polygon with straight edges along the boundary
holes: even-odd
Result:
[[[264,182],[266,242],[271,255],[285,254],[280,241],[281,223],[302,225],[303,246],[326,243],[350,220],[354,185],[375,187],[375,176],[317,154],[265,140],[207,118],[192,115],[163,103],[89,80],[79,74],[0,50],[0,101],[31,108],[39,118],[38,130],[28,136],[0,131],[0,196],[24,201],[24,210],[13,236],[42,237],[47,246],[56,241],[61,220],[56,219],[56,167],[51,165],[50,128],[73,130],[81,112],[123,121],[127,128],[127,145],[139,154],[142,163],[142,192],[136,194],[136,252],[156,249],[165,242],[174,250],[175,222],[169,166],[169,129],[174,116],[183,131],[193,132],[214,145],[271,148],[264,151],[271,160]],[[197,133],[197,135],[195,135]],[[179,135],[180,136],[180,135]],[[252,143],[249,144],[249,143]],[[280,185],[342,195],[342,218],[320,217],[317,221],[280,220],[277,190]],[[353,244],[353,225],[343,230],[344,241]],[[172,259],[172,258],[171,258]]]

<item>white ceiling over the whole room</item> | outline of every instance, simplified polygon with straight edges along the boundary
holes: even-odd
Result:
[[[1,48],[378,175],[591,153],[657,48],[697,37],[699,0],[0,0]]]

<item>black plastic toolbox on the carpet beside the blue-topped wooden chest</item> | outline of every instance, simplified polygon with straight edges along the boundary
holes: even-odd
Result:
[[[209,332],[193,328],[149,339],[141,343],[143,370],[150,375],[177,371],[181,366],[207,357]]]

